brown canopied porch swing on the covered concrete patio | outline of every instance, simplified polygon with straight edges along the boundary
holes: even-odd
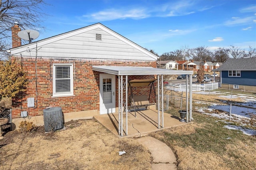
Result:
[[[152,99],[153,103],[150,103],[150,96],[152,93],[152,89],[153,89],[154,96],[156,99],[156,91],[155,91],[155,87],[154,87],[154,82],[156,80],[157,79],[134,79],[134,80],[129,81],[128,90],[130,90],[130,97],[129,97],[128,101],[129,101],[130,105],[128,107],[128,110],[130,112],[134,111],[135,117],[137,117],[136,111],[147,110],[150,105],[156,105],[156,100],[154,101],[154,99]],[[133,87],[142,87],[142,86],[150,86],[149,96],[133,94],[133,90],[132,90]]]

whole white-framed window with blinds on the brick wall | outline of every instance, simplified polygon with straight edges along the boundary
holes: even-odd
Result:
[[[73,65],[53,65],[53,96],[73,95]]]

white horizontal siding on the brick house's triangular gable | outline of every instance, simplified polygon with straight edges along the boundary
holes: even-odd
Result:
[[[103,26],[96,27],[98,26],[76,30],[38,42],[40,50],[37,51],[37,55],[57,58],[156,61],[157,58],[152,56],[152,53],[135,43]],[[34,44],[30,46],[34,48]],[[28,55],[26,49],[27,45],[16,51],[25,56]],[[30,55],[35,56],[35,51],[32,50]]]

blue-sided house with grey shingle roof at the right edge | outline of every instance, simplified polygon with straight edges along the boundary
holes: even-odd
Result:
[[[256,58],[228,59],[214,71],[224,88],[256,91]]]

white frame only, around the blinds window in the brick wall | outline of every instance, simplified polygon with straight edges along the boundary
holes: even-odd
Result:
[[[61,93],[56,93],[56,87],[55,87],[55,82],[56,82],[56,66],[69,66],[70,67],[70,92],[61,92]],[[52,67],[53,71],[53,97],[60,97],[60,96],[71,96],[74,95],[73,92],[73,63],[54,63]]]

